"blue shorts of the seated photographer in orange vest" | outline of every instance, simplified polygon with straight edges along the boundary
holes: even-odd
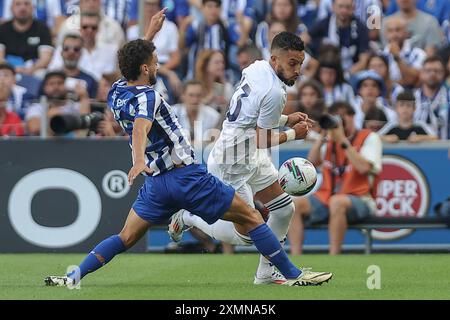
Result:
[[[347,195],[352,202],[350,210],[347,212],[347,221],[349,223],[359,222],[370,216],[370,208],[359,197]],[[314,195],[309,198],[311,204],[311,213],[306,221],[310,224],[326,222],[330,215],[328,207],[325,206]]]

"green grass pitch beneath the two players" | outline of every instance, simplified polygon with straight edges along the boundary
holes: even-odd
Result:
[[[45,287],[81,254],[1,254],[0,299],[450,299],[449,254],[293,257],[297,265],[331,271],[318,287],[255,286],[256,254],[123,254],[82,280],[80,290]],[[367,268],[381,270],[369,290]]]

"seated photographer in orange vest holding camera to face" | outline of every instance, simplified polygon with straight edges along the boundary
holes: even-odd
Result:
[[[330,254],[339,254],[347,224],[361,221],[376,210],[377,175],[382,169],[382,143],[375,132],[357,130],[355,111],[346,102],[336,102],[330,114],[319,119],[323,129],[308,154],[321,165],[322,184],[309,197],[294,197],[295,214],[289,229],[292,254],[301,254],[304,223],[328,219]]]

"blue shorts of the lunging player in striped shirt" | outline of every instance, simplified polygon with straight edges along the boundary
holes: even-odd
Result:
[[[204,165],[191,164],[147,177],[133,209],[152,224],[166,223],[186,209],[212,224],[230,208],[234,189],[206,171]]]

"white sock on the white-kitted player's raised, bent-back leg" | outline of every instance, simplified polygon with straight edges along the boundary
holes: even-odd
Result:
[[[234,224],[230,221],[217,220],[213,224],[208,224],[202,218],[185,211],[183,222],[190,226],[202,230],[213,239],[223,241],[232,245],[251,246],[252,240],[248,236],[238,233],[234,229]]]

